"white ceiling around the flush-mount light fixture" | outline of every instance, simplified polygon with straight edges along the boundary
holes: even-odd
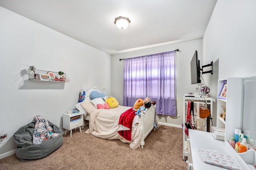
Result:
[[[201,39],[217,0],[0,0],[0,6],[110,55]],[[127,29],[114,20],[131,20]]]

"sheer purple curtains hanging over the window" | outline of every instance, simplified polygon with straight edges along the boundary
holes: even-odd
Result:
[[[124,59],[123,106],[147,96],[158,115],[176,115],[175,51]]]

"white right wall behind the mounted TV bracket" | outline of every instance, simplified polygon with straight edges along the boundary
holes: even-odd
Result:
[[[203,38],[203,61],[214,61],[207,76],[213,97],[218,79],[256,76],[256,1],[218,0]],[[216,103],[214,103],[216,114]],[[216,116],[214,117],[216,125]]]

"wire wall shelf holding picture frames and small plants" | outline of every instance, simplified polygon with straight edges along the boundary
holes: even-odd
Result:
[[[46,70],[29,70],[29,80],[31,81],[47,81],[47,82],[70,82],[70,79],[66,73],[46,71]]]

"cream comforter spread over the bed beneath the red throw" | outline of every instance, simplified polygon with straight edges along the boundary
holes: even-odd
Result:
[[[103,139],[119,139],[123,143],[130,143],[131,149],[140,147],[142,137],[140,119],[136,115],[132,127],[132,141],[124,139],[118,134],[119,117],[131,107],[118,106],[113,109],[95,109],[90,102],[83,102],[82,107],[90,113],[89,129],[85,133],[92,134]]]

